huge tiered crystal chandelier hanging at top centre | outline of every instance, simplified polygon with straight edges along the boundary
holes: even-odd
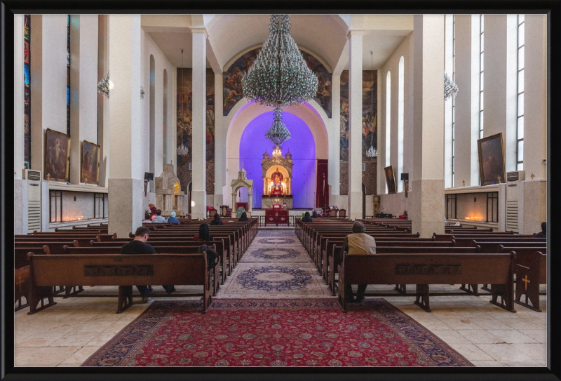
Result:
[[[269,37],[242,78],[243,95],[261,105],[299,105],[318,91],[318,77],[290,36],[290,15],[271,15]]]

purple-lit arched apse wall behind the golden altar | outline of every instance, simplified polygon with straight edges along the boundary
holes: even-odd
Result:
[[[273,152],[273,143],[265,133],[273,123],[274,112],[266,112],[253,119],[241,136],[240,162],[253,180],[253,208],[261,208],[263,178],[261,163],[265,149]],[[283,122],[291,138],[283,143],[283,155],[292,154],[292,196],[294,208],[313,208],[316,192],[316,142],[309,127],[294,114],[283,112]],[[243,195],[242,195],[243,196]],[[247,196],[246,196],[247,197]]]

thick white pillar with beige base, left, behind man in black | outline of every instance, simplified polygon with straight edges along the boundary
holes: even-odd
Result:
[[[109,102],[111,157],[109,232],[126,237],[142,225],[142,107],[140,101],[140,15],[109,15],[109,72],[114,88]],[[126,41],[126,48],[123,48]]]

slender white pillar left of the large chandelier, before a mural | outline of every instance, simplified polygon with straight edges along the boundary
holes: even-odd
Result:
[[[193,35],[193,185],[191,218],[206,216],[206,40],[205,29]],[[221,93],[222,94],[222,93]],[[215,102],[216,103],[216,102]]]

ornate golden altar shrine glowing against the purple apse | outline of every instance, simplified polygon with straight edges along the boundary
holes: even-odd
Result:
[[[261,207],[271,209],[273,205],[292,209],[292,154],[290,151],[283,156],[281,148],[273,147],[273,154],[265,151],[261,163],[263,178],[263,195]],[[288,218],[288,214],[287,214]]]

